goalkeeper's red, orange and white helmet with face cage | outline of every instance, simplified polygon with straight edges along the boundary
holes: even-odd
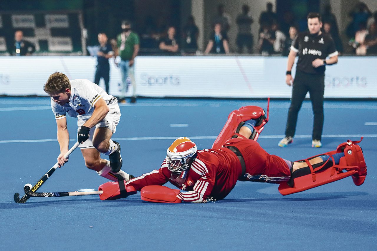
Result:
[[[167,168],[175,174],[187,170],[195,160],[196,151],[196,144],[189,138],[177,138],[166,151]]]

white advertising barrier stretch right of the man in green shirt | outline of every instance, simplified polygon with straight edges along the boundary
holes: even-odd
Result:
[[[376,62],[340,57],[326,67],[325,97],[377,97]],[[291,97],[285,57],[144,56],[136,63],[137,93],[144,96]]]

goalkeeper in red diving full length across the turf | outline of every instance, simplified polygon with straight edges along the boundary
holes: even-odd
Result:
[[[224,199],[237,181],[277,183],[280,184],[279,192],[283,195],[351,175],[357,186],[364,182],[365,161],[360,146],[355,144],[359,142],[343,143],[336,151],[306,160],[288,161],[268,154],[256,142],[268,121],[262,108],[244,108],[232,112],[234,116],[230,114],[212,149],[197,150],[196,144],[189,138],[176,139],[167,149],[167,156],[159,170],[124,183],[120,181],[119,187],[123,183],[125,191],[123,195],[135,194],[138,190],[141,191],[141,198],[146,201],[206,202]],[[250,111],[250,116],[245,116],[245,110]],[[229,135],[231,138],[226,140]],[[161,186],[168,181],[180,190]],[[119,187],[115,182],[102,184],[99,189],[104,193],[100,198],[124,198],[120,192],[122,188]],[[117,192],[115,188],[118,189]],[[112,194],[108,193],[109,190]]]

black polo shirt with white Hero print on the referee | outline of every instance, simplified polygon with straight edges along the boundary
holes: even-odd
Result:
[[[338,55],[335,43],[329,35],[323,32],[320,35],[311,35],[310,32],[300,33],[292,43],[291,50],[298,53],[297,70],[309,74],[322,75],[325,73],[325,65],[314,68],[311,64],[314,59],[326,59]]]

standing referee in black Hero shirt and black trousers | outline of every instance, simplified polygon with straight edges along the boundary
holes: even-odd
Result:
[[[291,46],[288,55],[287,77],[285,82],[292,86],[291,106],[288,111],[285,137],[280,140],[279,146],[284,147],[293,142],[296,131],[297,114],[302,102],[309,91],[313,106],[314,123],[312,134],[312,147],[322,146],[321,137],[323,129],[323,93],[325,91],[325,65],[338,62],[338,52],[335,43],[326,34],[321,32],[322,22],[318,13],[311,12],[308,17],[309,32],[300,33]],[[298,53],[296,76],[293,80],[291,70],[294,59]],[[326,59],[326,57],[329,57]]]

